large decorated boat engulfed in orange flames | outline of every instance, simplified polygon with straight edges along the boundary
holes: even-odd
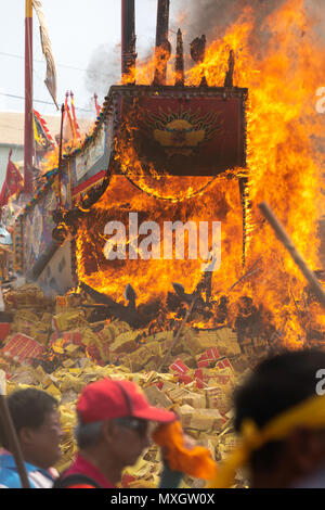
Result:
[[[193,326],[230,323],[242,344],[312,341],[320,328],[306,324],[320,313],[255,205],[274,204],[320,268],[317,242],[307,250],[316,238],[320,176],[303,129],[311,114],[306,90],[315,88],[318,75],[306,84],[298,64],[307,52],[311,60],[320,52],[311,42],[309,50],[292,42],[288,33],[282,50],[275,40],[257,62],[247,42],[253,15],[246,13],[222,41],[206,48],[204,36],[194,39],[195,65],[185,73],[180,30],[171,56],[168,8],[169,1],[158,1],[155,55],[144,68],[135,65],[134,2],[122,1],[122,82],[110,88],[91,136],[46,174],[17,219],[17,264],[56,293],[81,286],[105,313],[133,326],[160,316],[180,320],[195,299]],[[274,17],[275,26],[286,20],[296,33],[306,26],[290,1]],[[297,61],[285,61],[282,52],[294,50]],[[154,243],[153,222],[160,234],[168,222],[185,226],[185,254],[171,235],[162,257],[166,239]],[[213,244],[208,232],[208,250],[198,253],[203,222],[221,222],[218,270],[203,270]],[[157,256],[154,245],[164,247]]]

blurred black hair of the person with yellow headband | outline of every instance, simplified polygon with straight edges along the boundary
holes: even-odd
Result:
[[[250,418],[261,429],[272,418],[316,394],[316,372],[325,369],[325,352],[284,352],[261,361],[234,394],[235,429]],[[285,442],[270,442],[250,459],[255,470],[274,468]]]

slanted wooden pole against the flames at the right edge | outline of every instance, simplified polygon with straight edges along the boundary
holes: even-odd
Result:
[[[294,262],[297,264],[299,267],[300,271],[307,279],[308,283],[310,284],[315,297],[318,299],[323,308],[325,308],[325,292],[318,282],[315,273],[309,269],[307,263],[303,260],[302,256],[300,253],[297,251],[296,246],[294,245],[292,241],[286,233],[284,227],[281,225],[281,222],[277,220],[277,218],[274,216],[271,207],[265,203],[262,202],[259,204],[259,208],[261,209],[263,216],[266,218],[271,227],[273,228],[275,235],[277,239],[283,243],[283,245],[286,247],[286,250],[289,252],[291,255]]]

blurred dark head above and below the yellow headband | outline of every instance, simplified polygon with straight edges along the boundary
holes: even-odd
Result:
[[[325,368],[322,350],[286,352],[260,362],[234,395],[235,428],[251,419],[259,429],[316,395],[316,372]],[[325,405],[325,401],[324,401]],[[282,441],[269,442],[250,457],[255,486],[291,485],[325,462],[325,426],[297,425]]]

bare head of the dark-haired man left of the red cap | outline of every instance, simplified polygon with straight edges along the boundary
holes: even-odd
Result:
[[[27,388],[11,393],[6,401],[24,459],[38,468],[54,466],[61,457],[63,435],[56,399],[40,390]],[[10,449],[1,426],[0,441]]]

